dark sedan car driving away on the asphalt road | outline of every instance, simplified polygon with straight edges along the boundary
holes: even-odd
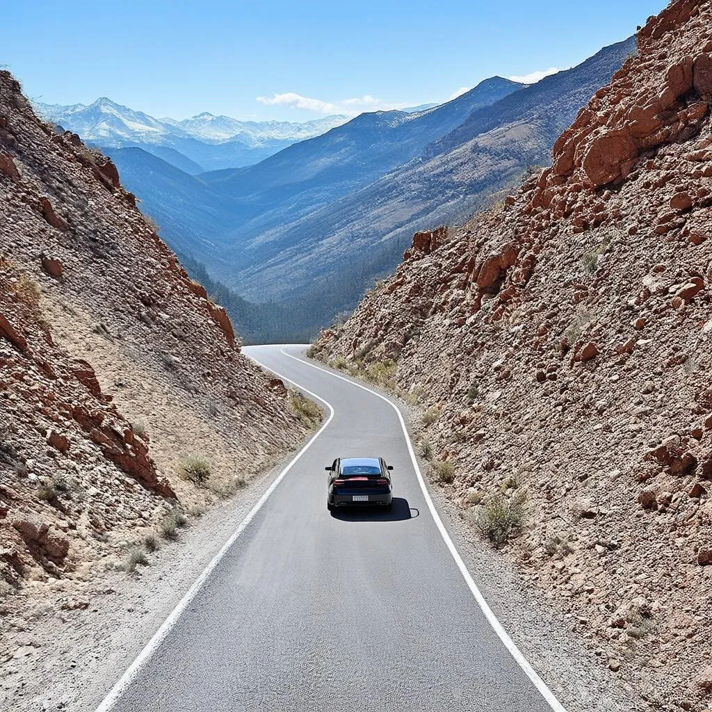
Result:
[[[382,457],[339,458],[327,467],[329,486],[326,506],[377,505],[391,507],[390,471]]]

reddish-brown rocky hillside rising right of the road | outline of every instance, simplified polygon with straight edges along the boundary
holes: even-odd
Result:
[[[637,43],[552,167],[456,234],[417,234],[315,352],[393,372],[427,409],[422,452],[464,517],[632,693],[699,711],[712,706],[712,2],[674,1]]]

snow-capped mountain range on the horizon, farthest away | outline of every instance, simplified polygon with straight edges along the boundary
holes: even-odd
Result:
[[[88,106],[35,103],[34,107],[85,142],[105,150],[142,148],[190,174],[257,163],[349,120],[348,116],[331,115],[304,123],[240,121],[204,112],[177,121],[156,119],[105,97]]]

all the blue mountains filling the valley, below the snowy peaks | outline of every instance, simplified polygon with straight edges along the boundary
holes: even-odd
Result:
[[[256,325],[248,339],[304,340],[354,308],[414,231],[464,221],[548,164],[634,51],[629,38],[534,85],[493,77],[433,108],[362,114],[246,167],[192,175],[156,150],[108,153],[164,239],[234,303],[236,323]]]

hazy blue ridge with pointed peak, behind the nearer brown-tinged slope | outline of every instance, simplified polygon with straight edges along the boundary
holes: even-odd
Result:
[[[361,114],[245,170],[202,175],[239,206],[240,222],[222,240],[245,244],[260,234],[268,236],[271,229],[280,229],[360,189],[417,158],[427,145],[461,124],[473,110],[521,86],[494,77],[426,111]]]

